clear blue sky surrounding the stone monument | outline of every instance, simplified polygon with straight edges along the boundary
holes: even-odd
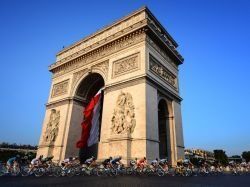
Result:
[[[37,144],[55,54],[143,5],[185,58],[185,146],[250,150],[248,0],[1,0],[0,141]]]

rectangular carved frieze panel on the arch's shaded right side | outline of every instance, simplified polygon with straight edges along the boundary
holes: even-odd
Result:
[[[170,85],[174,86],[177,89],[176,85],[176,77],[170,73],[164,66],[162,66],[153,56],[150,55],[149,57],[149,69],[163,79],[165,82],[169,83]]]

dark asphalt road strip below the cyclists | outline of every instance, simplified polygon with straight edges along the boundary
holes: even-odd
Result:
[[[0,187],[85,187],[85,186],[136,186],[136,187],[250,187],[248,176],[207,176],[207,177],[157,177],[157,176],[118,176],[118,177],[0,177]]]

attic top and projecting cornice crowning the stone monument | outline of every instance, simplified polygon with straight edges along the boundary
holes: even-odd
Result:
[[[49,70],[67,63],[70,60],[93,51],[109,42],[112,42],[130,32],[147,26],[182,62],[183,58],[178,53],[176,48],[178,44],[155,18],[152,12],[147,7],[131,13],[130,15],[116,21],[112,25],[93,33],[92,35],[76,42],[75,44],[63,49],[57,54],[56,62],[50,65]]]

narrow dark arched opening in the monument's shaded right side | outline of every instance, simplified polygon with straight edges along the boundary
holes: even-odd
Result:
[[[169,112],[167,103],[161,99],[158,104],[158,135],[159,135],[159,158],[169,159]]]

